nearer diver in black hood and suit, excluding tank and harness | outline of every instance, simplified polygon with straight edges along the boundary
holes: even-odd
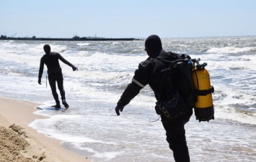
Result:
[[[146,39],[145,50],[149,57],[138,65],[138,69],[134,72],[132,82],[126,87],[120,100],[118,100],[115,108],[117,115],[120,115],[125,105],[128,105],[133,97],[136,97],[140,90],[146,85],[151,87],[156,100],[159,101],[162,77],[164,77],[164,70],[166,70],[169,65],[165,65],[164,62],[159,59],[174,61],[180,57],[180,54],[165,52],[164,49],[162,49],[161,39],[157,35],[151,35]],[[172,150],[175,161],[177,162],[190,161],[184,125],[187,123],[192,113],[193,111],[191,109],[184,118],[173,120],[169,120],[165,115],[161,115],[162,125],[166,130],[169,148]]]

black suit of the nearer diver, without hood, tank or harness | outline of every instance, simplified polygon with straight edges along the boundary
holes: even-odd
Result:
[[[147,84],[149,84],[151,89],[154,91],[156,100],[158,100],[162,77],[164,75],[162,70],[167,67],[167,65],[164,65],[164,62],[161,62],[159,59],[167,59],[171,61],[178,58],[178,54],[165,52],[162,49],[159,56],[156,58],[149,57],[144,62],[141,62],[138,65],[138,69],[135,71],[132,82],[120,97],[118,107],[122,108],[125,105],[128,105],[133,97],[138,95],[141,88]],[[192,115],[192,110],[190,115]],[[188,118],[190,118],[190,115]],[[173,151],[175,161],[190,161],[184,128],[187,121],[182,119],[169,120],[164,115],[162,115],[161,118],[164,129],[166,130],[167,142],[169,143],[169,148]]]

